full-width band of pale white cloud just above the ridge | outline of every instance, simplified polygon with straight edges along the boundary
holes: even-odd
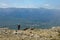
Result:
[[[21,4],[7,4],[7,3],[0,3],[0,8],[10,8],[10,7],[14,7],[14,8],[47,8],[47,9],[60,9],[60,8],[57,8],[55,6],[52,6],[50,4],[38,4],[38,5],[35,5],[35,4],[25,4],[25,5],[21,5]]]

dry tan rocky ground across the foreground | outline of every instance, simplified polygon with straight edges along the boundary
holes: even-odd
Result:
[[[0,28],[0,40],[60,40],[60,27],[18,31]]]

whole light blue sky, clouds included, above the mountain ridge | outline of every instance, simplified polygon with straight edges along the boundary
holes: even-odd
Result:
[[[0,0],[0,8],[60,9],[60,0]]]

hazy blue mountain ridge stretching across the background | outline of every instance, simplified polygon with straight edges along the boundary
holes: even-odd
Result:
[[[0,26],[21,24],[38,28],[60,26],[60,10],[44,8],[0,8]],[[28,25],[28,26],[27,26]]]

